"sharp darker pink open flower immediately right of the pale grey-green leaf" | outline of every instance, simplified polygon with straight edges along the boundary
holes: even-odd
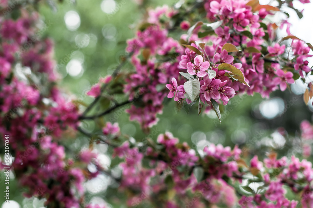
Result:
[[[206,77],[203,80],[203,85],[200,88],[200,93],[203,93],[204,98],[207,101],[210,101],[211,98],[214,100],[218,100],[221,98],[220,94],[218,93],[218,87],[220,83],[221,80],[212,80]]]

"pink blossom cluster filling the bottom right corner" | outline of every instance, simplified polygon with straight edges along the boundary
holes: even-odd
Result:
[[[295,156],[291,157],[289,163],[286,157],[281,159],[276,157],[277,154],[270,154],[269,158],[264,159],[266,169],[257,156],[251,160],[251,168],[258,170],[264,185],[258,188],[260,191],[257,193],[253,192],[254,196],[243,196],[239,200],[239,205],[244,208],[295,208],[298,202],[286,198],[285,186],[289,186],[294,193],[304,191],[301,194],[303,207],[313,205],[311,191],[305,191],[312,189],[309,185],[313,179],[312,163],[305,159],[300,162]]]

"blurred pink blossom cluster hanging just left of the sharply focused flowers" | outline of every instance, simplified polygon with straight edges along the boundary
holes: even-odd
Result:
[[[158,16],[159,11],[150,12],[151,15]],[[159,90],[158,86],[165,85],[173,76],[177,77],[179,69],[178,63],[169,60],[161,63],[159,67],[155,65],[155,58],[150,56],[165,55],[179,52],[182,46],[178,41],[168,37],[168,31],[161,28],[161,24],[152,21],[153,25],[148,26],[144,31],[138,31],[136,38],[128,40],[126,51],[134,51],[131,62],[136,69],[136,73],[130,74],[126,78],[124,92],[129,95],[130,100],[139,100],[143,107],[131,106],[128,112],[131,120],[136,120],[143,128],[149,128],[158,121],[156,114],[162,113],[162,102],[167,95],[165,89]],[[141,60],[140,55],[144,55]],[[146,55],[148,54],[148,55]]]

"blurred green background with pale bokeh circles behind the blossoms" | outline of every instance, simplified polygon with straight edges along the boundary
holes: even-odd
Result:
[[[261,4],[268,2],[260,1]],[[39,11],[45,26],[39,32],[54,40],[56,70],[60,74],[61,88],[69,94],[74,94],[76,98],[82,98],[87,103],[91,102],[92,99],[85,96],[85,92],[98,81],[99,77],[113,72],[119,63],[119,57],[125,54],[126,40],[135,36],[136,26],[144,18],[146,8],[163,4],[171,6],[175,3],[183,1],[79,0],[74,3],[72,0],[64,0],[56,7],[49,4],[41,5]],[[299,3],[294,7],[301,10],[303,5]],[[308,27],[313,20],[313,14],[310,12],[313,5],[305,4],[305,7],[304,18],[300,20],[295,11],[287,11],[293,24],[290,30],[300,39],[313,43],[312,29]],[[276,15],[273,17],[275,21],[279,21],[280,18]],[[283,32],[281,36],[284,36]],[[309,66],[311,65],[312,61]],[[126,65],[122,70],[132,70],[131,65]],[[310,77],[307,81],[310,81]],[[263,99],[259,94],[235,96],[227,107],[221,109],[221,124],[214,112],[198,116],[198,109],[194,105],[187,115],[184,108],[174,101],[165,105],[163,114],[158,116],[160,121],[148,134],[143,133],[136,122],[130,122],[126,113],[119,114],[117,122],[122,133],[130,135],[137,141],[142,141],[146,137],[156,139],[158,134],[169,131],[180,141],[186,141],[199,151],[209,143],[231,147],[239,144],[240,148],[251,144],[250,151],[259,155],[265,156],[265,152],[270,150],[275,150],[279,156],[290,155],[295,153],[290,151],[293,141],[273,132],[279,127],[284,127],[295,139],[299,136],[300,122],[304,119],[311,121],[312,100],[309,106],[304,104],[302,94],[305,87],[306,85],[298,79],[285,92],[272,93],[270,99]],[[111,114],[112,117],[114,113]],[[83,125],[89,131],[99,131],[94,122]],[[79,151],[88,145],[88,139],[77,135],[70,142],[64,142],[64,145]],[[119,170],[115,167],[117,162],[111,159],[111,151],[106,145],[98,145],[96,149],[103,164],[111,166],[118,174]],[[249,151],[246,154],[249,154]],[[4,174],[1,173],[0,177],[3,179]],[[9,205],[3,203],[2,191],[0,193],[2,208],[44,207],[44,200],[24,198],[14,181],[14,175],[11,175],[10,179],[11,203]],[[126,207],[118,203],[124,196],[116,193],[114,187],[116,187],[114,182],[105,175],[100,175],[86,183],[87,198],[99,204],[106,201],[111,207]]]

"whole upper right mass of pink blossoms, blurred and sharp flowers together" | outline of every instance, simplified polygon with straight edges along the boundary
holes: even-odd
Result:
[[[211,28],[208,35],[199,36],[207,32],[203,22],[191,27],[189,19],[179,23],[183,31],[189,29],[187,34],[183,32],[180,40],[172,38],[169,25],[175,22],[179,10],[162,7],[149,10],[147,21],[127,42],[126,51],[133,52],[135,72],[126,75],[124,92],[136,104],[126,112],[145,129],[156,124],[166,96],[180,103],[195,101],[186,96],[184,83],[188,80],[180,73],[200,81],[198,97],[209,110],[211,100],[226,105],[244,92],[269,97],[275,90],[285,91],[295,82],[294,73],[304,77],[311,71],[307,66],[310,48],[290,34],[288,19],[280,23],[281,27],[287,25],[289,38],[293,39],[293,54],[287,58],[286,44],[276,39],[278,26],[264,23],[279,9],[244,0],[208,0],[201,6],[212,22],[207,25]],[[214,24],[218,26],[212,29]]]

